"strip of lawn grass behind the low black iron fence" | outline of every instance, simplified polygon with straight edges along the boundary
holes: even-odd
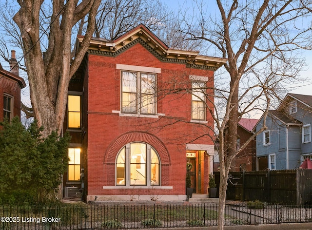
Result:
[[[141,222],[144,219],[158,219],[163,222],[189,220],[216,220],[217,211],[208,206],[185,204],[148,204],[148,205],[87,205],[64,204],[53,206],[0,206],[1,216],[20,217],[55,217],[65,225],[77,220],[89,222],[105,222],[118,220],[121,222]]]

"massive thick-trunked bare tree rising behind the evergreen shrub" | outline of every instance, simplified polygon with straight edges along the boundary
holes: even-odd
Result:
[[[13,20],[18,28],[11,23],[11,36],[22,45],[34,115],[44,136],[54,130],[60,133],[69,81],[89,47],[100,0],[17,2],[20,9]],[[86,15],[84,40],[72,59],[72,30]]]

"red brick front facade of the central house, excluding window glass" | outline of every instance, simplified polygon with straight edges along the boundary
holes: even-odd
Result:
[[[98,200],[134,197],[150,200],[152,195],[165,200],[185,199],[187,151],[194,152],[197,159],[195,192],[206,194],[208,174],[212,172],[209,155],[213,155],[213,141],[209,135],[213,135],[210,129],[214,122],[209,112],[203,122],[192,120],[190,90],[194,76],[204,77],[207,79],[206,92],[213,95],[213,74],[219,63],[198,64],[200,61],[208,63],[209,58],[196,56],[198,52],[188,53],[189,57],[193,54],[193,58],[198,58],[193,64],[188,63],[186,51],[177,55],[174,50],[174,57],[168,52],[164,58],[159,49],[168,48],[142,25],[127,36],[118,38],[113,44],[116,45],[113,49],[109,49],[109,46],[103,48],[103,45],[95,49],[92,45],[98,45],[98,41],[92,41],[82,64],[83,70],[77,73],[77,79],[73,80],[69,88],[70,91],[74,88],[83,89],[83,117],[79,135],[86,199],[93,200],[97,196]],[[162,50],[161,52],[163,53]],[[221,58],[215,60],[221,63],[225,61]],[[121,113],[123,68],[137,69],[140,72],[153,69],[158,71],[156,115]],[[213,101],[212,96],[209,99]],[[211,106],[211,103],[207,104]],[[77,141],[78,139],[76,138]],[[158,153],[160,186],[129,188],[116,185],[117,154],[132,142],[147,143]],[[70,186],[70,183],[67,182],[66,185]]]

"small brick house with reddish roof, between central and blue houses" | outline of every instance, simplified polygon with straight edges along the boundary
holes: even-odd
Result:
[[[237,127],[237,149],[239,149],[246,141],[254,134],[253,129],[257,124],[258,119],[241,118]],[[256,156],[255,156],[255,139],[235,156],[231,171],[255,171]]]

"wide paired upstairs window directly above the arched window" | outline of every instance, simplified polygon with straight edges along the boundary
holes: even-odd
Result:
[[[121,71],[121,113],[156,114],[156,74]]]

